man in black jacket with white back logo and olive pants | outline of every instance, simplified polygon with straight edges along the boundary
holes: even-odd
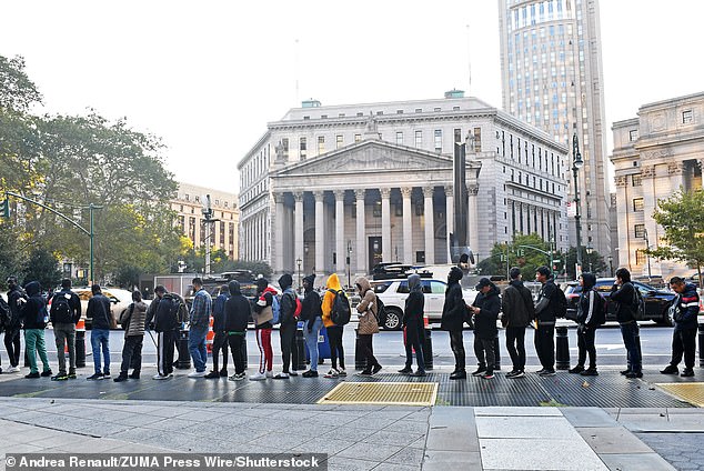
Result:
[[[51,381],[76,379],[76,324],[81,319],[81,300],[71,291],[71,280],[61,280],[61,291],[51,299],[49,318],[53,325],[53,335],[57,342],[57,355],[59,357],[59,373],[51,377]],[[64,348],[69,347],[69,372],[66,372]]]

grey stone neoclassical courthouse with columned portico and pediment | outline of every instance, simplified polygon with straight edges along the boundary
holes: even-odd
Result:
[[[309,100],[270,122],[238,164],[240,257],[268,261],[274,275],[343,280],[381,261],[446,263],[455,142],[466,147],[467,242],[479,260],[513,233],[569,247],[567,149],[453,90],[434,100]]]

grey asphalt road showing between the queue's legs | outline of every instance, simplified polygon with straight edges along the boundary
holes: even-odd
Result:
[[[570,353],[571,353],[571,362],[574,364],[576,362],[577,349],[576,349],[576,331],[575,327],[572,322],[565,322],[565,325],[569,325],[569,342],[570,342]],[[355,323],[352,322],[345,327],[344,330],[344,349],[345,349],[345,359],[348,363],[348,368],[353,365],[354,361],[354,328]],[[56,345],[53,340],[53,331],[49,328],[46,332],[47,340],[47,350],[49,353],[49,361],[51,363],[56,363]],[[119,364],[122,351],[123,343],[123,331],[112,331],[110,334],[110,350],[111,350],[111,362]],[[504,370],[507,370],[507,367],[511,364],[511,360],[509,358],[507,351],[505,349],[505,337],[504,331],[500,330],[500,342],[501,342],[501,361]],[[471,330],[465,330],[464,332],[464,347],[467,357],[467,365],[472,365],[475,362],[474,351],[473,351],[473,340],[474,335]],[[672,342],[672,328],[664,328],[655,325],[652,322],[643,322],[641,324],[641,345],[643,351],[643,364],[644,367],[651,368],[660,368],[661,365],[665,365],[670,359],[671,351],[671,342]],[[435,367],[452,367],[454,365],[454,357],[452,355],[452,351],[450,349],[450,339],[447,333],[439,330],[432,330],[432,343],[433,343],[433,361]],[[274,370],[276,369],[276,364],[281,364],[280,361],[280,352],[281,349],[279,347],[279,334],[278,331],[274,330],[272,333],[272,344],[274,349]],[[535,348],[533,347],[533,330],[529,328],[525,335],[525,344],[526,344],[526,365],[537,367],[540,363],[537,361],[537,357],[535,355]],[[87,332],[86,337],[86,351],[90,355],[90,332]],[[250,364],[254,364],[258,362],[258,348],[257,341],[254,338],[254,333],[250,332],[248,334],[248,357]],[[403,335],[399,331],[382,331],[379,334],[374,335],[374,353],[376,354],[379,361],[384,367],[398,367],[402,365],[405,359],[404,347],[403,347]],[[147,363],[155,364],[157,361],[157,350],[155,347],[150,339],[149,334],[144,335],[143,343],[143,361]],[[623,347],[623,341],[621,339],[621,331],[618,325],[615,323],[607,323],[602,327],[596,332],[596,357],[597,357],[597,365],[599,367],[624,367],[625,368],[625,349]],[[2,359],[2,367],[8,365],[8,357],[7,351],[4,349],[4,344],[0,343],[0,358]],[[232,361],[232,360],[230,360]],[[91,359],[90,357],[87,359],[87,363],[90,367]],[[325,360],[325,364],[330,364],[330,360]],[[325,367],[321,367],[321,371],[324,370]],[[114,368],[113,368],[114,370]]]

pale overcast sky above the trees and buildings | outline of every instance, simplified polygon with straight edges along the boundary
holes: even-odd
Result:
[[[600,7],[611,153],[614,121],[704,91],[704,1]],[[266,122],[303,99],[457,88],[501,107],[495,0],[0,0],[0,54],[26,58],[41,112],[127,117],[163,139],[178,180],[224,191],[238,190],[237,163]]]

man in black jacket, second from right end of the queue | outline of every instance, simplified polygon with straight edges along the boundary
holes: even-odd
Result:
[[[643,378],[638,323],[635,320],[638,310],[636,288],[631,282],[631,272],[625,268],[616,270],[616,282],[611,288],[611,300],[616,303],[616,321],[621,327],[621,337],[626,348],[627,368],[621,373],[628,379]]]

